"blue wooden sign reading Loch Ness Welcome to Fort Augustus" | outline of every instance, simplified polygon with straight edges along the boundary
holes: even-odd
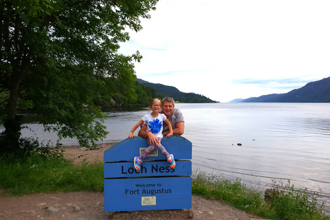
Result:
[[[104,152],[105,212],[191,208],[192,143],[173,136],[164,137],[162,145],[174,155],[174,169],[155,150],[135,170],[133,158],[148,147],[142,137],[127,138]]]

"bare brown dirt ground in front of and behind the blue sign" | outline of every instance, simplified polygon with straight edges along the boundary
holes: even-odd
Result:
[[[103,162],[103,152],[113,144],[103,144],[94,150],[82,151],[79,146],[63,146],[65,157],[81,165],[87,162]],[[134,212],[104,212],[103,192],[69,192],[34,194],[23,197],[3,197],[0,190],[0,219],[196,219],[196,220],[254,220],[261,219],[236,210],[221,201],[192,196],[189,210],[153,210]]]

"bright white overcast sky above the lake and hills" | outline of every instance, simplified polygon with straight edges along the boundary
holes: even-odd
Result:
[[[330,1],[160,0],[120,53],[137,78],[219,102],[330,76]]]

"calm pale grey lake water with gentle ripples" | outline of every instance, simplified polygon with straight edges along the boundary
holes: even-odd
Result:
[[[185,119],[186,137],[192,142],[192,168],[240,178],[259,190],[272,180],[319,192],[330,198],[329,103],[217,103],[175,104]],[[133,111],[132,111],[133,110]],[[109,135],[102,142],[119,142],[148,110],[107,111]],[[52,140],[38,119],[27,115],[23,135]],[[0,131],[3,130],[2,124]],[[137,134],[137,131],[135,131]],[[76,140],[61,140],[64,145]],[[240,143],[241,146],[237,144]],[[327,204],[329,206],[329,204]]]

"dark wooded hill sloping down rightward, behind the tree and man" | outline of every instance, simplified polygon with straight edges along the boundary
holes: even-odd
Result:
[[[205,96],[194,94],[194,93],[184,93],[179,91],[179,89],[163,85],[163,84],[155,84],[155,83],[149,83],[145,80],[142,80],[140,78],[136,79],[138,83],[141,83],[142,85],[146,87],[152,87],[155,89],[156,94],[163,95],[163,96],[169,96],[172,97],[175,101],[179,102],[186,102],[186,103],[214,103],[214,100],[210,100],[210,98],[206,98]]]

